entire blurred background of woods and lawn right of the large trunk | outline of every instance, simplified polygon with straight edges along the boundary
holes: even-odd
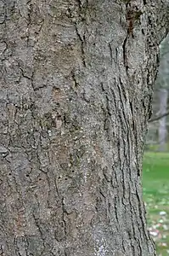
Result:
[[[169,35],[160,46],[153,114],[144,152],[144,203],[158,256],[169,255]]]

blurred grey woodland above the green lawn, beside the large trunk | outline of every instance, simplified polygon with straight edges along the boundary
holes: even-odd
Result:
[[[167,101],[169,89],[169,36],[160,45],[160,67],[155,80],[153,115],[149,119],[148,145],[158,145],[158,150],[167,150]],[[151,124],[152,123],[152,124]]]

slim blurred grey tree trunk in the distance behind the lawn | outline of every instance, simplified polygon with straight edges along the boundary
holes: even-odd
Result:
[[[160,114],[163,115],[167,112],[167,99],[168,99],[168,90],[161,88],[159,90],[159,100],[160,100]],[[166,151],[166,116],[159,119],[159,150]]]

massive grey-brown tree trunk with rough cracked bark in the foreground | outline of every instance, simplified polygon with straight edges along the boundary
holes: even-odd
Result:
[[[1,255],[155,255],[140,175],[167,15],[151,2],[0,1]]]

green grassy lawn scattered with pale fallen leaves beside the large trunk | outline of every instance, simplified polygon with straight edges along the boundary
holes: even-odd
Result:
[[[144,202],[157,255],[169,255],[169,153],[144,154]]]

